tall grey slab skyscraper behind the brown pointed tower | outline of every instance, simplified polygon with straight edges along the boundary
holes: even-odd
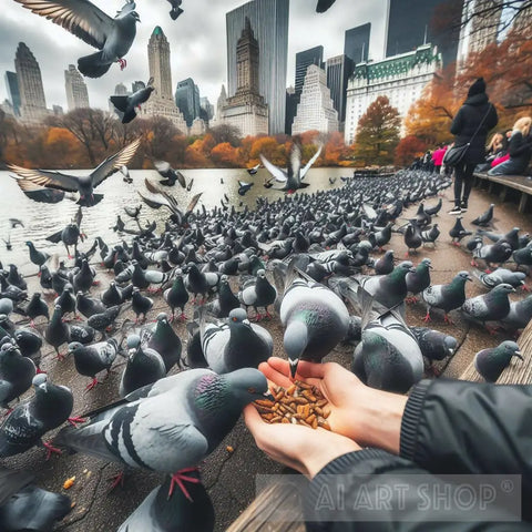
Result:
[[[258,92],[269,106],[269,133],[285,130],[289,0],[255,0],[226,14],[228,95],[237,91],[236,44],[250,21],[260,50]]]

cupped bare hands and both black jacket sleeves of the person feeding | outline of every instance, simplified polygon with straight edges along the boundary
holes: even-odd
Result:
[[[291,383],[286,360],[259,369]],[[267,423],[253,405],[244,417],[259,449],[310,480],[295,479],[307,531],[532,529],[532,386],[421,380],[406,397],[335,362],[297,371],[328,399],[331,431]]]

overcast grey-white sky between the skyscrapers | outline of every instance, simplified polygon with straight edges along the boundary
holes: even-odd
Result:
[[[123,0],[92,0],[114,17]],[[260,1],[260,0],[256,0]],[[51,21],[33,14],[14,0],[1,0],[0,18],[0,102],[7,98],[3,74],[14,71],[14,53],[20,41],[28,44],[41,66],[47,105],[62,105],[66,111],[64,70],[78,58],[95,51]],[[108,98],[122,82],[129,89],[134,80],[147,81],[147,41],[155,25],[161,25],[171,45],[172,85],[192,78],[202,96],[216,104],[222,83],[227,82],[225,13],[245,3],[243,0],[183,0],[184,13],[173,21],[167,0],[136,0],[141,18],[136,39],[126,55],[127,68],[114,64],[98,80],[85,79],[92,106],[108,109]],[[344,52],[344,32],[371,22],[370,58],[381,59],[387,0],[337,0],[326,12],[316,13],[317,0],[290,0],[288,30],[287,85],[294,84],[295,54],[324,47],[324,59]]]

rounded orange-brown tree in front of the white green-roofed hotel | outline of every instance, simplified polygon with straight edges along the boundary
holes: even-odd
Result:
[[[366,165],[385,165],[393,161],[399,142],[401,119],[387,96],[378,96],[358,121],[355,156]]]

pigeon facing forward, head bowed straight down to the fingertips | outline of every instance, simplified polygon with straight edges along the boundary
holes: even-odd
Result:
[[[344,301],[293,265],[285,280],[279,316],[285,327],[283,342],[293,379],[299,360],[320,362],[349,329],[349,313]]]

